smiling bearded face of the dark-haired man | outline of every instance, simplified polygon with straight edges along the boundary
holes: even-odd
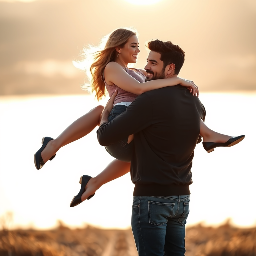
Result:
[[[145,81],[163,79],[166,77],[164,62],[160,60],[161,54],[155,51],[150,51],[147,57],[147,65],[144,68],[147,71]]]

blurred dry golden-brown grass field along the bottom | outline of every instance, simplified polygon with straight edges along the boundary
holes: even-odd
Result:
[[[254,256],[256,228],[187,228],[186,256]],[[133,256],[137,255],[132,231],[88,226],[71,230],[2,230],[0,256]]]

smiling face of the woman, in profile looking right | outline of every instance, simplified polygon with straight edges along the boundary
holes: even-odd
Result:
[[[137,55],[140,52],[137,36],[131,36],[128,42],[120,50],[121,53],[119,54],[119,57],[121,57],[125,63],[136,63]]]

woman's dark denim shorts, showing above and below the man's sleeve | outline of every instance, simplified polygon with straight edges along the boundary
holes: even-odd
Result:
[[[110,122],[111,120],[115,119],[116,116],[123,113],[126,110],[126,108],[127,106],[125,105],[115,105],[108,116],[108,121]],[[121,160],[123,162],[131,162],[134,142],[131,141],[128,144],[127,140],[128,140],[128,136],[125,138],[122,138],[116,143],[113,143],[109,146],[105,146],[105,149],[114,158]]]

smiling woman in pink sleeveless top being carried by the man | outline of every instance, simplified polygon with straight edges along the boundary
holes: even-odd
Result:
[[[104,50],[96,52],[95,61],[90,67],[90,72],[92,74],[91,86],[92,90],[96,92],[97,99],[101,99],[105,96],[105,87],[109,91],[110,96],[114,94],[113,89],[118,89],[114,99],[115,106],[113,109],[116,110],[115,116],[124,111],[137,95],[157,88],[181,84],[182,86],[188,87],[190,92],[193,92],[193,95],[196,96],[197,87],[194,83],[181,78],[166,78],[143,82],[146,77],[145,70],[127,68],[128,63],[136,62],[137,55],[140,52],[138,47],[139,43],[134,31],[123,28],[116,29],[109,36]],[[87,57],[86,54],[87,53],[85,52],[85,57]],[[92,109],[86,115],[72,123],[55,140],[50,137],[45,137],[42,141],[42,147],[34,156],[36,168],[40,169],[45,162],[49,159],[52,160],[60,147],[91,132],[99,124],[102,110],[103,106],[98,106]],[[112,116],[112,118],[115,116]],[[212,148],[209,150],[213,150],[216,145],[234,145],[243,138],[233,139],[232,136],[211,131],[204,122],[201,122],[200,134],[203,135],[204,142],[219,143],[218,145],[212,145]],[[225,143],[228,143],[228,145]],[[108,148],[107,151],[109,151]],[[114,156],[114,154],[112,155]],[[83,177],[83,179],[80,180],[82,184],[81,190],[79,194],[73,198],[70,206],[75,206],[87,198],[90,199],[99,186],[114,178],[122,176],[129,170],[129,162],[123,162],[116,159],[94,179],[90,179],[90,176],[84,175],[86,177]],[[88,183],[89,180],[90,182]],[[95,181],[94,184],[93,180]],[[89,188],[90,184],[92,186]],[[85,188],[86,193],[82,196]]]

